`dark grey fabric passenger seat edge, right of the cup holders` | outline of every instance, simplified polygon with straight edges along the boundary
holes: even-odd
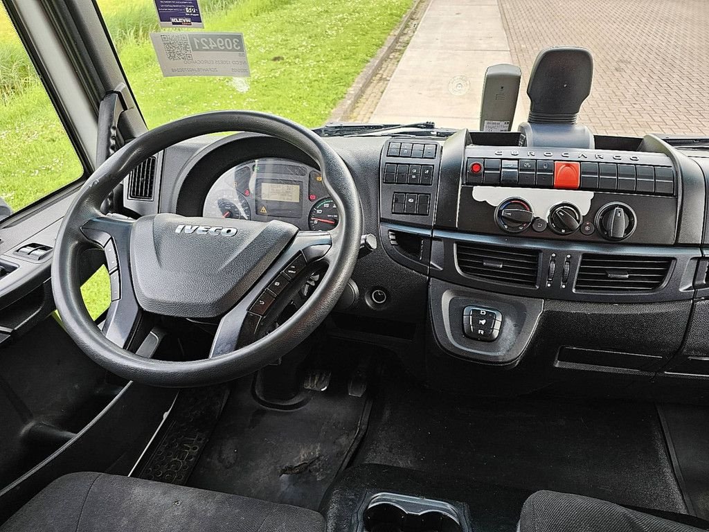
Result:
[[[658,515],[581,495],[536,492],[525,501],[519,532],[700,532],[706,521],[683,514]],[[683,522],[679,522],[679,520]]]

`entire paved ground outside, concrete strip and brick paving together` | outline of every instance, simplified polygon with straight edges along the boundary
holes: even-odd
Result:
[[[598,134],[709,134],[709,0],[430,0],[383,91],[373,122],[432,119],[476,128],[486,67],[523,72],[517,121],[537,52],[591,50],[595,75],[581,123]]]

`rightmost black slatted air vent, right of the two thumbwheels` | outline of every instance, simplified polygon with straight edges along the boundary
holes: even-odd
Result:
[[[664,284],[672,265],[666,257],[584,255],[577,292],[652,292]]]

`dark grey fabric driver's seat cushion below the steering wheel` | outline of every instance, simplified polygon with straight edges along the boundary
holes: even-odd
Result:
[[[323,532],[315,511],[103,473],[52,482],[1,532]]]

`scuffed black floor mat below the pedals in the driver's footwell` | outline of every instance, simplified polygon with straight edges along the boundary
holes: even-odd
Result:
[[[217,492],[317,509],[362,435],[371,406],[333,374],[325,392],[291,411],[259,403],[252,382],[235,384],[189,480]]]

